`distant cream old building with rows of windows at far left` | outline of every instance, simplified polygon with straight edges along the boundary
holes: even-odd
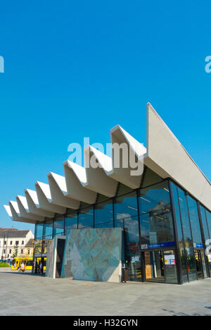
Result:
[[[17,257],[33,257],[32,240],[34,241],[32,231],[0,228],[0,259],[10,260],[16,252]]]

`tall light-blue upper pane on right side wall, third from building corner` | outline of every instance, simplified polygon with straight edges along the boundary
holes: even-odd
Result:
[[[200,223],[198,216],[198,207],[196,200],[193,200],[191,196],[187,197],[188,200],[188,210],[191,221],[191,231],[193,236],[193,243],[202,243],[202,237],[200,233]]]

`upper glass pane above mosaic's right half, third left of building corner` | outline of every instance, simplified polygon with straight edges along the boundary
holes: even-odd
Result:
[[[107,200],[95,205],[94,209],[95,228],[113,228],[113,200]]]

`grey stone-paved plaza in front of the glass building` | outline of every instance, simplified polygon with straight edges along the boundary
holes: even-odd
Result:
[[[1,271],[0,287],[0,316],[211,316],[211,279],[179,286],[71,281]]]

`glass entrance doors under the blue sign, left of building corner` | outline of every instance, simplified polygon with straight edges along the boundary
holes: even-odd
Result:
[[[178,283],[174,250],[144,252],[146,281]]]

